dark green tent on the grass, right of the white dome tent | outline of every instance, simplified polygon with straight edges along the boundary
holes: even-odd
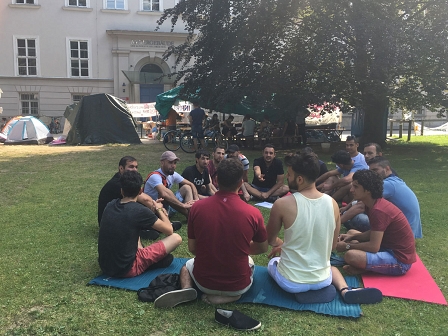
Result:
[[[141,143],[126,102],[106,93],[85,96],[77,106],[67,106],[64,117],[71,125],[69,145]]]

